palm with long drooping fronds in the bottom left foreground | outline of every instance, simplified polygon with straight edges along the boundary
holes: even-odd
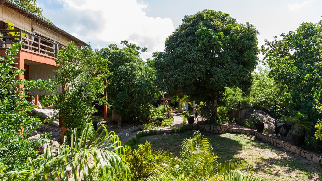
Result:
[[[58,156],[52,155],[50,147],[45,147],[44,154],[39,158],[28,158],[28,169],[11,171],[2,180],[62,180],[71,177],[76,180],[82,178],[93,180],[98,171],[102,179],[131,180],[132,174],[124,160],[124,148],[115,133],[103,131],[89,138],[90,123],[87,123],[81,138],[77,137],[77,130],[71,131],[71,146],[67,145],[66,137],[62,148],[58,147]],[[99,129],[98,129],[99,130]],[[104,131],[105,130],[105,131]]]

